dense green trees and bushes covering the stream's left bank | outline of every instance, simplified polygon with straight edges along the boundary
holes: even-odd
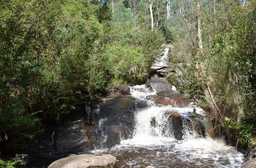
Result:
[[[146,24],[149,12],[134,17],[125,4],[112,12],[96,0],[0,2],[1,158],[21,153],[83,98],[146,80],[164,35]]]

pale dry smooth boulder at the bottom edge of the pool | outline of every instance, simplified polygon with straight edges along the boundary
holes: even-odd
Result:
[[[110,154],[80,154],[56,160],[48,168],[114,168],[115,165],[116,157]]]

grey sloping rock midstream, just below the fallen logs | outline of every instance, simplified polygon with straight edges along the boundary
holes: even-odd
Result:
[[[156,92],[172,89],[172,85],[165,78],[159,78],[156,74],[150,78],[150,81],[146,85],[150,86]]]

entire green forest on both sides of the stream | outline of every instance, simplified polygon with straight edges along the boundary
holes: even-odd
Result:
[[[0,167],[83,101],[145,83],[163,43],[212,127],[256,145],[255,30],[256,0],[1,0]]]

